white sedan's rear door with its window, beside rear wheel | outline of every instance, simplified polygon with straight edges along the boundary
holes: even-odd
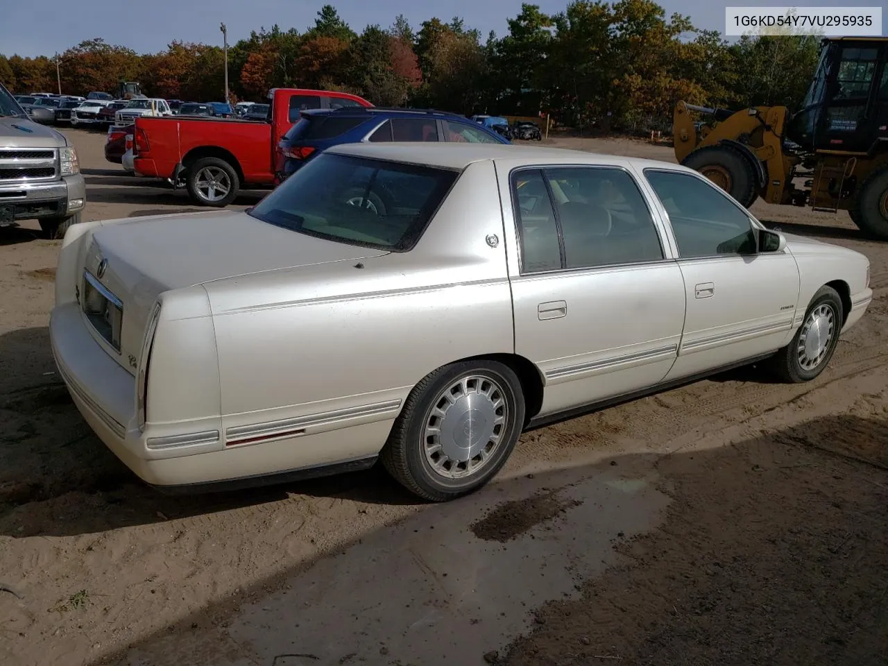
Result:
[[[497,168],[517,232],[515,352],[543,372],[540,416],[660,382],[677,357],[685,287],[630,171]]]

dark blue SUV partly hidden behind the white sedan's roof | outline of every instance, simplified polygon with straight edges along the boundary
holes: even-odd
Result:
[[[301,111],[278,141],[277,178],[284,180],[326,148],[361,141],[511,143],[464,115],[415,108],[343,107]]]

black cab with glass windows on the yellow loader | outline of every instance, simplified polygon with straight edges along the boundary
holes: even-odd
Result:
[[[821,57],[787,139],[807,151],[888,150],[888,38],[824,39]]]

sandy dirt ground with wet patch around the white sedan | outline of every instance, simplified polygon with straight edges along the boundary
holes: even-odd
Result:
[[[195,210],[66,133],[87,219]],[[432,506],[376,470],[145,488],[55,374],[59,242],[0,229],[0,663],[888,664],[888,246],[844,213],[753,212],[872,262],[828,371],[743,369],[527,432],[495,483]]]

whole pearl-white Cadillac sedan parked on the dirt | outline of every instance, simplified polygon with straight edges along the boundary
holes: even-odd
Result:
[[[765,361],[817,377],[866,257],[766,230],[677,165],[492,144],[329,149],[245,212],[75,225],[52,351],[147,483],[380,458],[430,500],[520,432]]]

